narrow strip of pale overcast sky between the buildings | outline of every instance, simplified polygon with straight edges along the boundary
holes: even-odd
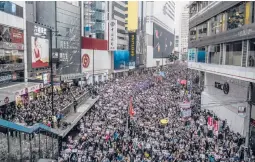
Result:
[[[181,13],[185,5],[189,4],[189,1],[174,1],[175,2],[175,35],[180,33]]]

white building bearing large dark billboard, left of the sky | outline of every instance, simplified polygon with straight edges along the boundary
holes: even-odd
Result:
[[[146,67],[165,65],[174,50],[175,3],[173,1],[145,2]]]

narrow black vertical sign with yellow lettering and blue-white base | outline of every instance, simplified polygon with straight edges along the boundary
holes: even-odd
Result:
[[[128,33],[129,37],[129,69],[135,68],[136,61],[136,33]]]

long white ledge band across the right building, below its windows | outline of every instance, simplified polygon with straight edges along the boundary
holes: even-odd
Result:
[[[206,63],[189,62],[190,69],[204,71],[216,75],[222,75],[234,79],[244,80],[248,82],[255,81],[255,68],[231,66],[231,65],[215,65]]]

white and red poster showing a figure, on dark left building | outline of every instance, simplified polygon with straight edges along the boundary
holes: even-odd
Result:
[[[49,66],[49,40],[31,37],[32,68]]]

